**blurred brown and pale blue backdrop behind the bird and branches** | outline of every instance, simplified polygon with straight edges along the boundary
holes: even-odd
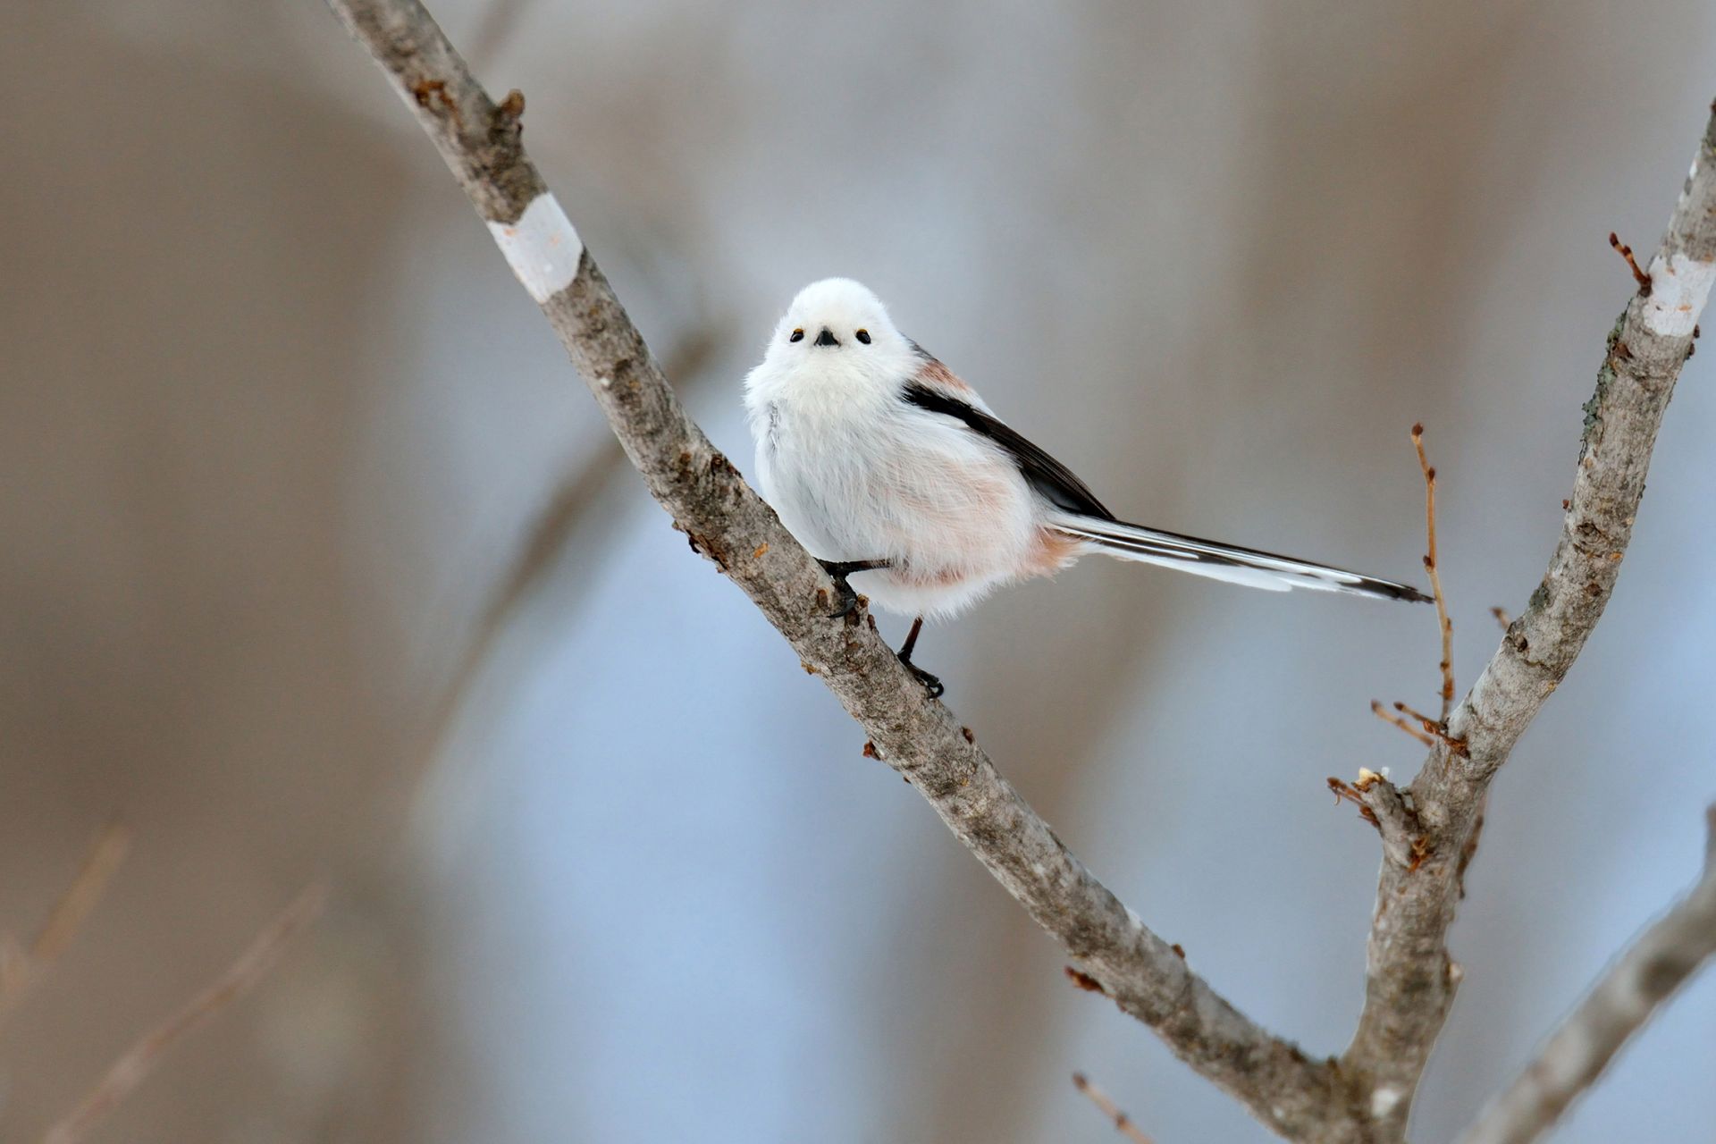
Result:
[[[1716,94],[1716,10],[436,0],[717,444],[849,274],[1122,515],[1421,580],[1460,688]],[[36,1139],[309,882],[287,964],[100,1141],[1114,1139],[1261,1129],[1112,1005],[645,496],[321,3],[0,12],[0,931],[127,863],[0,1029]],[[1416,1139],[1685,887],[1716,796],[1716,379],[1500,777]],[[884,621],[887,624],[889,621]],[[892,636],[899,626],[889,628]],[[1088,561],[925,635],[1002,770],[1237,1005],[1357,1017],[1429,609]],[[1562,1130],[1716,1139],[1716,979]]]

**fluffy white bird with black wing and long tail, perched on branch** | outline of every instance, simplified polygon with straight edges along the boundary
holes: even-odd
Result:
[[[932,696],[940,679],[911,662],[927,617],[1097,552],[1273,592],[1431,602],[1404,583],[1122,521],[851,278],[798,292],[745,377],[745,412],[764,499],[834,578],[841,612],[863,593],[913,617],[899,659]]]

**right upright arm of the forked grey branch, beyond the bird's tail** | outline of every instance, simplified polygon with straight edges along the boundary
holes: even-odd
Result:
[[[1380,1139],[1404,1137],[1412,1091],[1453,1002],[1459,967],[1448,959],[1447,933],[1484,792],[1603,616],[1713,278],[1716,117],[1651,259],[1651,290],[1635,295],[1610,331],[1550,569],[1453,710],[1453,743],[1438,743],[1409,787],[1428,856],[1416,870],[1393,856],[1383,861],[1364,1014],[1342,1060],[1371,1093]]]

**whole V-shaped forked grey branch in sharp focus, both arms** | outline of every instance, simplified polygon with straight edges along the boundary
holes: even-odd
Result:
[[[1359,1029],[1340,1062],[1311,1062],[1222,1000],[1097,882],[995,772],[970,729],[923,695],[873,624],[829,614],[832,583],[685,415],[525,156],[523,96],[515,91],[494,105],[415,0],[329,0],[329,7],[414,108],[650,492],[865,727],[867,753],[930,801],[1064,945],[1083,978],[1270,1129],[1308,1141],[1404,1139],[1453,996],[1457,969],[1445,938],[1488,784],[1603,614],[1656,431],[1716,276],[1711,135],[1651,262],[1651,293],[1634,298],[1610,336],[1562,544],[1543,585],[1465,700],[1445,722],[1424,720],[1435,744],[1411,787],[1402,792],[1380,775],[1354,787],[1385,835],[1395,837],[1385,837]],[[1426,484],[1433,497],[1428,463]],[[1447,664],[1443,671],[1452,698]]]

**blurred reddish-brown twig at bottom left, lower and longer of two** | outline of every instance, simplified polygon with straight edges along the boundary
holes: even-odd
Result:
[[[244,996],[280,960],[287,942],[321,912],[326,892],[312,885],[293,899],[211,986],[192,996],[113,1062],[77,1108],[48,1129],[41,1144],[77,1144],[89,1129],[142,1084],[161,1055],[221,1009]]]

